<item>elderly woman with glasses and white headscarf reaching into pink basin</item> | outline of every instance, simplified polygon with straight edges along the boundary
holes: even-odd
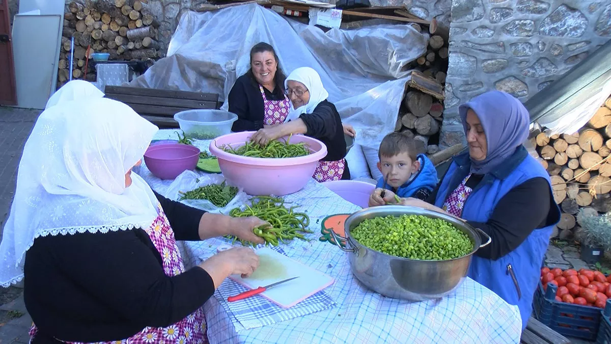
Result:
[[[252,141],[267,144],[282,136],[305,134],[327,146],[327,156],[320,160],[313,178],[316,181],[350,179],[346,157],[346,141],[342,119],[335,105],[327,100],[320,75],[310,67],[293,70],[285,81],[286,93],[291,100],[291,112],[283,124],[260,129]]]

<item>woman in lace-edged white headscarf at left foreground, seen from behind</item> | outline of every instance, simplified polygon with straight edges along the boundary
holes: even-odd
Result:
[[[253,250],[218,253],[185,271],[176,241],[252,233],[233,219],[167,200],[137,174],[158,128],[105,98],[46,109],[24,146],[0,243],[0,285],[24,279],[31,343],[205,343],[201,306]]]

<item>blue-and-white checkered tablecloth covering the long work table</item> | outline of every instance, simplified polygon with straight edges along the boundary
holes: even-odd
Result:
[[[208,142],[195,144],[207,148]],[[171,183],[153,177],[145,166],[139,173],[162,195]],[[368,290],[354,278],[347,253],[318,241],[324,217],[359,208],[313,179],[285,200],[307,209],[310,229],[316,233],[310,235],[310,242],[293,241],[283,249],[290,258],[335,278],[324,292],[336,307],[246,328],[224,306],[226,296],[217,291],[204,305],[211,343],[519,343],[518,308],[472,279],[467,278],[451,296],[433,301],[407,302]],[[198,264],[226,243],[224,239],[183,243],[185,264]]]

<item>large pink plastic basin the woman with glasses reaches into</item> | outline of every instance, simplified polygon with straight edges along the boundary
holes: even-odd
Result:
[[[290,143],[305,142],[312,154],[305,157],[268,159],[243,157],[223,151],[229,144],[233,149],[251,140],[255,132],[230,133],[210,142],[210,152],[218,157],[221,172],[229,184],[243,187],[253,196],[284,196],[298,192],[312,178],[318,160],[327,155],[327,147],[321,141],[304,135],[291,136]],[[280,138],[286,140],[288,136]]]

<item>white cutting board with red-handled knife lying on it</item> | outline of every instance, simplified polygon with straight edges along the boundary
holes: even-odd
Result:
[[[224,249],[226,247],[219,247],[219,250]],[[293,307],[334,282],[333,277],[288,258],[268,247],[263,247],[255,252],[259,256],[258,269],[246,279],[243,279],[240,275],[230,275],[229,278],[247,288],[256,289],[260,286],[290,279],[291,277],[299,277],[298,279],[276,285],[259,294],[280,307]]]

